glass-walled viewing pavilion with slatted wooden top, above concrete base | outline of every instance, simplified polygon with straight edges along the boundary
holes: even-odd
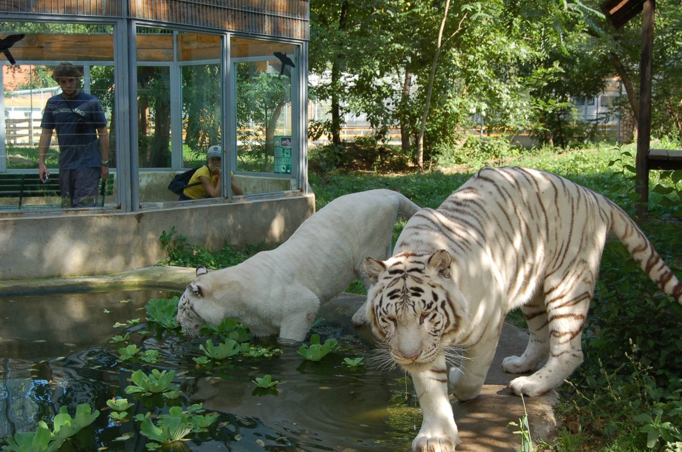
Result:
[[[0,217],[308,193],[307,0],[0,0],[0,12]],[[51,75],[63,61],[82,72],[80,89],[98,97],[108,122],[113,180],[88,209],[20,193],[10,177],[38,174],[41,120],[61,93]],[[224,152],[222,196],[179,200],[168,183],[206,164],[211,145]],[[53,134],[54,177],[58,158]]]

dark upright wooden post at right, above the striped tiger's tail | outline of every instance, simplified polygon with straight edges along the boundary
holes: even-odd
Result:
[[[637,215],[647,213],[649,202],[649,140],[651,140],[651,63],[653,57],[653,14],[655,0],[644,2],[642,11],[642,60],[640,61],[640,102],[637,121]]]

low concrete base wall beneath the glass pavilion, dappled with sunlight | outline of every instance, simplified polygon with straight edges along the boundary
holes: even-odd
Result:
[[[0,217],[0,280],[104,275],[154,265],[175,226],[209,248],[281,242],[314,212],[314,195],[133,213]]]

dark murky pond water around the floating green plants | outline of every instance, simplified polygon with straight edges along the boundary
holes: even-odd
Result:
[[[188,340],[179,329],[146,323],[149,299],[175,295],[109,290],[0,298],[0,445],[16,432],[35,431],[38,421],[51,425],[61,406],[74,415],[78,404],[87,403],[100,416],[86,429],[88,438],[79,440],[80,449],[69,450],[145,451],[149,440],[140,434],[139,422],[108,419],[106,401],[117,397],[134,403],[128,410],[133,415],[160,415],[173,405],[198,403],[218,414],[208,432],[190,434],[176,451],[409,449],[421,425],[411,381],[399,370],[372,364],[374,346],[368,340],[323,320],[311,333],[323,342],[336,338],[340,350],[321,361],[303,359],[297,353],[300,344],[261,338],[250,343],[281,348],[282,354],[237,355],[199,366],[192,358],[203,356],[199,346],[210,336]],[[134,319],[140,319],[139,325],[128,322]],[[122,361],[121,344],[110,340],[125,333],[130,333],[129,344],[158,350],[160,360]],[[213,342],[219,341],[213,337]],[[367,363],[349,367],[346,357],[365,357]],[[130,375],[138,369],[145,374],[175,370],[180,397],[126,394]],[[252,382],[266,374],[280,381],[273,391],[258,390]]]

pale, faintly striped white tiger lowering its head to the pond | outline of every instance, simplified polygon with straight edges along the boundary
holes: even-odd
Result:
[[[345,290],[363,270],[368,254],[391,256],[398,215],[411,217],[414,202],[391,190],[340,196],[308,218],[275,250],[241,264],[208,272],[196,269],[178,302],[177,321],[190,333],[203,322],[236,318],[256,335],[302,341],[320,303]],[[353,316],[366,320],[365,308]]]

